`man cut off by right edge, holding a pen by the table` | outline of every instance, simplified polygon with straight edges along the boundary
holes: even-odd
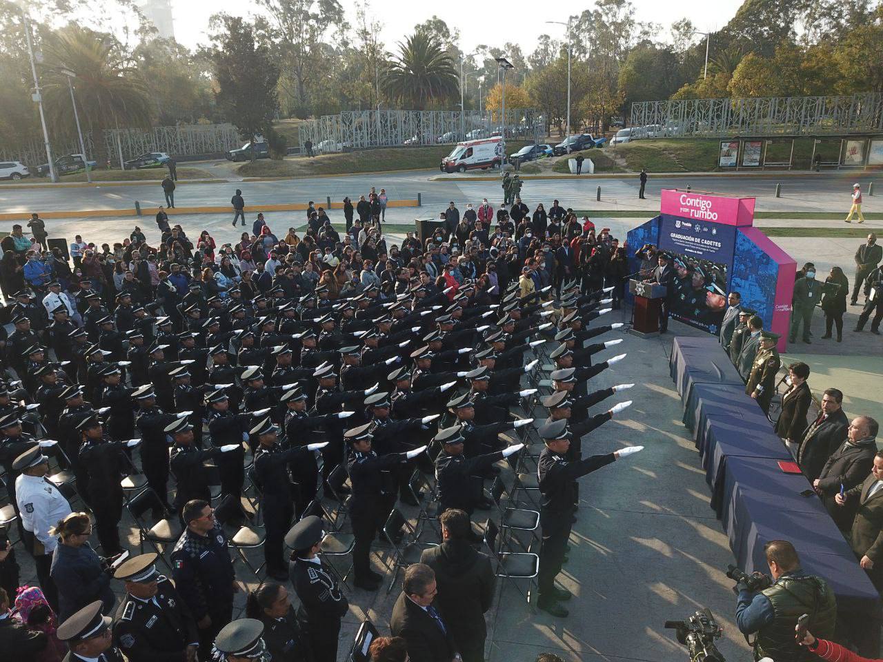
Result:
[[[840,508],[857,500],[849,544],[874,586],[883,591],[883,451],[874,455],[870,475],[834,500]]]

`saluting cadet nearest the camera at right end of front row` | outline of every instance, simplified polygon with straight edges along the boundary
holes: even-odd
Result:
[[[540,427],[540,437],[546,447],[540,453],[537,473],[540,478],[540,526],[543,531],[540,546],[540,573],[538,589],[540,598],[537,606],[553,616],[567,616],[568,611],[559,604],[570,599],[570,591],[555,586],[555,576],[561,572],[570,527],[573,525],[573,490],[577,478],[585,476],[620,457],[638,453],[643,446],[620,448],[607,455],[589,455],[581,460],[570,462],[567,452],[570,448],[570,431],[566,420],[555,421]]]

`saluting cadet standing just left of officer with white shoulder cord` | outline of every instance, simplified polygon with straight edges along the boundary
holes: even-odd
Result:
[[[261,512],[267,538],[264,541],[264,560],[267,574],[280,582],[288,578],[283,562],[282,545],[285,534],[291,528],[294,516],[294,495],[288,465],[303,460],[307,455],[325,448],[328,441],[291,446],[283,449],[276,439],[279,428],[267,417],[255,425],[249,434],[258,438],[259,447],[254,451],[254,485],[260,490]],[[313,460],[314,462],[314,460]]]

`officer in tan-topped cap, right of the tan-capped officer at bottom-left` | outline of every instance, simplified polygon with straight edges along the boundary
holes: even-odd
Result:
[[[113,641],[129,662],[196,662],[196,621],[155,562],[155,553],[140,554],[114,572],[125,583],[125,598],[115,616]]]

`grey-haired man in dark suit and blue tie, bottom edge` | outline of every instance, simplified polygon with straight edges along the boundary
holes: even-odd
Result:
[[[435,573],[423,563],[404,572],[402,593],[392,608],[389,630],[408,644],[412,662],[452,662],[460,659],[449,626],[433,606],[438,594]]]

